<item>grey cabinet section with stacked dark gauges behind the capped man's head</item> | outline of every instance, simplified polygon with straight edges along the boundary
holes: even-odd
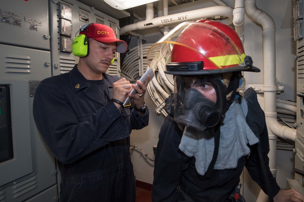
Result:
[[[70,71],[79,58],[72,54],[72,42],[78,30],[88,23],[99,23],[110,26],[119,38],[119,21],[95,10],[78,1],[61,0],[50,1],[50,32],[52,40],[52,75],[64,74]],[[119,53],[115,54],[115,61],[110,65],[107,73],[120,76]]]

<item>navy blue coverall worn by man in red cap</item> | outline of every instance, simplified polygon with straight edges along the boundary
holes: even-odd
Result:
[[[58,160],[60,201],[135,201],[130,133],[148,125],[149,111],[116,108],[110,100],[119,79],[103,74],[101,84],[88,81],[75,65],[36,89],[34,118]]]

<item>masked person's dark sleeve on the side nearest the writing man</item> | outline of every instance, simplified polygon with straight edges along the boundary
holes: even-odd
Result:
[[[181,180],[182,158],[178,149],[181,141],[178,126],[165,118],[159,133],[159,141],[154,162],[154,180],[152,186],[152,201],[173,202],[177,194],[177,186]]]

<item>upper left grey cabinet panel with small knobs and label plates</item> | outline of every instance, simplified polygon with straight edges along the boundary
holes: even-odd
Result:
[[[1,1],[0,43],[50,50],[48,1]]]

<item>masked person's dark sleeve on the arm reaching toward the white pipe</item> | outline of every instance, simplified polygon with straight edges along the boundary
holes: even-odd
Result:
[[[252,89],[253,90],[253,89]],[[254,92],[255,93],[255,92]],[[270,181],[272,194],[275,196],[278,194],[280,187],[278,186],[275,177],[272,176],[272,173],[269,168],[269,140],[268,140],[268,131],[266,127],[265,114],[261,109],[260,105],[257,102],[256,93],[255,96],[245,99],[248,101],[248,114],[246,117],[247,124],[254,134],[259,138],[261,143],[262,156],[264,159],[264,165],[267,171],[267,176]],[[262,174],[261,164],[257,153],[257,144],[253,146],[250,156],[246,161],[245,167],[247,168],[251,178],[261,187],[265,194],[269,194],[267,184]]]

